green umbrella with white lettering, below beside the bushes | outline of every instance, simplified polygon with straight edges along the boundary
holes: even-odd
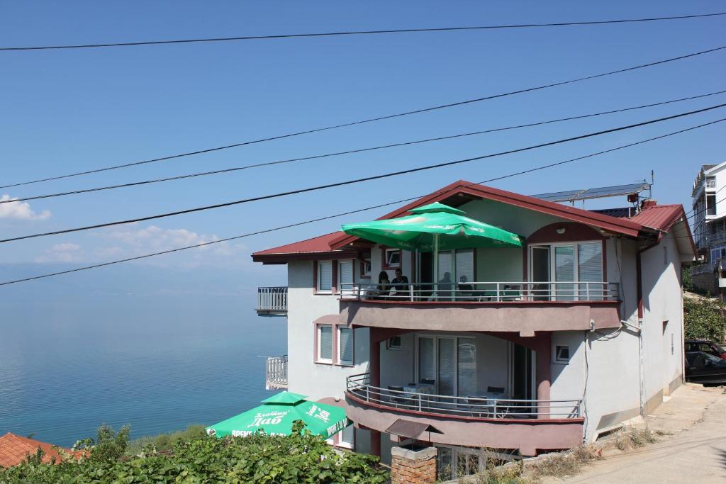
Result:
[[[207,427],[209,435],[245,437],[255,432],[290,435],[293,422],[302,420],[314,435],[329,438],[348,425],[346,411],[337,406],[305,400],[305,395],[281,392],[262,401],[262,405],[236,417]]]

